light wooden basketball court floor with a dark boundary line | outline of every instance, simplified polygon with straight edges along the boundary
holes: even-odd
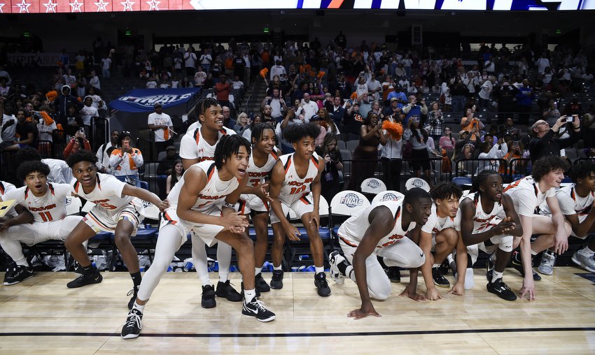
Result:
[[[283,289],[261,297],[276,312],[267,324],[241,317],[241,303],[219,298],[204,310],[197,274],[167,273],[136,340],[120,338],[132,285],[127,273],[104,273],[101,284],[82,289],[66,288],[73,273],[37,273],[0,286],[0,353],[594,354],[595,285],[575,273],[584,271],[556,268],[536,283],[532,303],[489,294],[481,270],[464,297],[435,302],[401,298],[404,285],[393,284],[391,298],[374,302],[382,317],[358,321],[346,317],[360,305],[353,282],[330,281],[332,295],[320,298],[313,273],[286,273]],[[505,272],[512,289],[521,287],[517,275]],[[238,273],[232,283],[239,288]]]

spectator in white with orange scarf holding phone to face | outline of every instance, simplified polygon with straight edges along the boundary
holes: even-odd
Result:
[[[130,132],[123,131],[118,137],[118,145],[111,152],[109,165],[113,167],[112,173],[116,179],[127,182],[135,187],[141,187],[139,168],[143,166],[143,154],[132,147]]]

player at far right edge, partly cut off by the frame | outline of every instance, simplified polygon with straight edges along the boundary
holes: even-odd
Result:
[[[595,163],[593,161],[580,161],[570,168],[568,174],[573,184],[562,187],[556,191],[556,199],[560,210],[566,219],[566,224],[572,229],[570,236],[586,239],[591,233],[595,233]],[[547,203],[540,206],[540,215],[549,216],[551,211]],[[545,275],[554,273],[556,253],[554,247],[554,235],[545,234],[539,236],[531,245],[531,251],[538,253],[543,249],[539,272]],[[589,245],[573,254],[572,261],[581,268],[595,273],[595,238],[591,239]]]

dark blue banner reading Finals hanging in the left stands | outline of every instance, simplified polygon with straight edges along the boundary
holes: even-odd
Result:
[[[145,113],[153,111],[155,103],[161,103],[164,109],[172,108],[193,101],[200,92],[199,88],[184,89],[134,89],[124,96],[111,101],[109,106],[127,113]]]

